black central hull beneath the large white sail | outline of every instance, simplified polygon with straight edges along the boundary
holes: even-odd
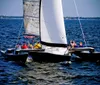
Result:
[[[33,58],[33,61],[37,62],[63,62],[70,61],[71,56],[69,55],[55,55],[51,53],[46,53],[44,51],[34,51],[29,52],[29,55]]]

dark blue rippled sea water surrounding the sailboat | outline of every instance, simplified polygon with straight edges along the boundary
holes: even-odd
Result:
[[[22,19],[0,19],[0,49],[15,46],[24,31]],[[100,51],[100,20],[81,20],[87,46]],[[68,42],[84,43],[77,20],[65,20]],[[22,28],[22,29],[21,29]],[[90,61],[61,63],[27,63],[22,66],[6,61],[0,54],[0,85],[100,85],[100,64]]]

